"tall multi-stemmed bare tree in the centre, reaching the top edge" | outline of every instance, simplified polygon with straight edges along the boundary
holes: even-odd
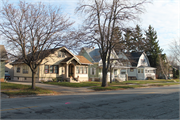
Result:
[[[134,21],[144,12],[148,0],[82,0],[76,12],[85,18],[82,31],[85,32],[83,43],[97,45],[103,63],[102,87],[107,86],[106,77],[110,66],[112,49],[121,42],[115,39],[117,27]]]

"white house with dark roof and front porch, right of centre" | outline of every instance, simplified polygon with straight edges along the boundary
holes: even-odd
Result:
[[[119,53],[118,56],[126,62],[126,66],[130,67],[121,70],[121,74],[128,73],[128,79],[156,79],[156,68],[150,66],[145,52]]]

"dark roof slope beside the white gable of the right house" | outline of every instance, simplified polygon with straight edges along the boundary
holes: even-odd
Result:
[[[143,52],[131,52],[131,53],[125,53],[126,57],[129,59],[129,62],[131,63],[132,66],[137,66],[139,58]]]

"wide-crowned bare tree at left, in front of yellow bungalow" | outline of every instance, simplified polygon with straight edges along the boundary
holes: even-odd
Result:
[[[41,2],[19,1],[16,6],[3,2],[0,17],[0,33],[14,50],[11,55],[30,67],[32,89],[35,89],[35,74],[42,63],[41,58],[52,52],[47,49],[64,45],[73,22],[62,14],[60,7],[46,6]]]

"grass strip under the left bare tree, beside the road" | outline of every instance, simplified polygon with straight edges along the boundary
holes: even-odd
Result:
[[[7,94],[9,96],[15,95],[37,95],[37,94],[57,94],[57,92],[42,89],[36,87],[35,90],[31,89],[29,85],[20,85],[20,84],[13,84],[13,83],[1,83],[1,90],[2,93]]]

